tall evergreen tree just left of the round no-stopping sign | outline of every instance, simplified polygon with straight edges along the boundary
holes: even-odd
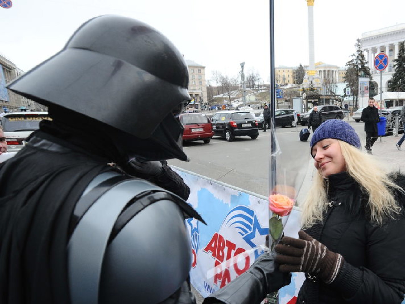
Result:
[[[375,96],[375,83],[372,81],[371,72],[367,66],[367,60],[364,57],[363,51],[361,49],[360,39],[356,40],[356,54],[352,54],[350,57],[352,59],[346,63],[346,75],[344,77],[345,82],[347,82],[347,87],[350,87],[352,95],[356,98],[356,107],[358,101],[358,77],[369,77],[370,78],[370,97]]]

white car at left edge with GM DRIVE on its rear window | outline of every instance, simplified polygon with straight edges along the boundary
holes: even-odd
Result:
[[[6,113],[1,119],[1,126],[9,146],[7,151],[21,150],[26,144],[27,137],[39,128],[39,122],[43,119],[51,120],[48,112]]]

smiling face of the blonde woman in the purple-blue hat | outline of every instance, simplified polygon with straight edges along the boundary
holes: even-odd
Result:
[[[315,168],[327,178],[330,174],[346,171],[346,162],[337,139],[326,138],[316,143],[311,155],[315,160]]]

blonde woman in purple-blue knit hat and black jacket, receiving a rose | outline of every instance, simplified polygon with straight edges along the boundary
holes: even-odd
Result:
[[[281,272],[305,272],[296,303],[401,303],[405,293],[405,176],[359,149],[350,124],[328,120],[311,139],[318,173],[299,239],[275,247]]]

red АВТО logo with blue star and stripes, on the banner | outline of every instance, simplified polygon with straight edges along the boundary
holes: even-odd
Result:
[[[237,206],[230,210],[220,232],[215,232],[203,249],[215,260],[208,275],[213,277],[214,285],[222,288],[233,278],[243,274],[263,253],[258,245],[264,243],[263,236],[267,233],[268,228],[260,226],[254,210],[246,206]]]

